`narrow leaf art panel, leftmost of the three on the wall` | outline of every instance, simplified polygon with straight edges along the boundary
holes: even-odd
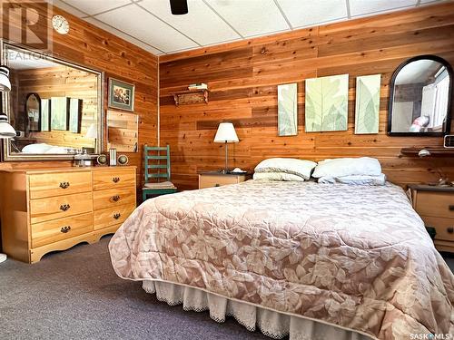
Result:
[[[298,84],[278,85],[278,131],[280,136],[298,134]]]

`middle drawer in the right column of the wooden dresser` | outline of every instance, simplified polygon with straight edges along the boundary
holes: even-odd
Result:
[[[121,205],[135,204],[135,187],[98,190],[93,193],[93,209],[107,209]]]

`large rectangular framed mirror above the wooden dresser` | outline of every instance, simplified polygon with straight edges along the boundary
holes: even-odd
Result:
[[[4,141],[4,160],[72,160],[101,153],[103,73],[2,43],[11,92],[3,109],[16,137]]]

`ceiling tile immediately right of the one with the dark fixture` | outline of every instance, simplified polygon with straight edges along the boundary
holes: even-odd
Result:
[[[272,0],[205,0],[243,36],[290,29]]]

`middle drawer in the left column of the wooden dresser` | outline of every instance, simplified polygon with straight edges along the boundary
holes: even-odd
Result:
[[[93,211],[91,192],[30,200],[32,224]]]

